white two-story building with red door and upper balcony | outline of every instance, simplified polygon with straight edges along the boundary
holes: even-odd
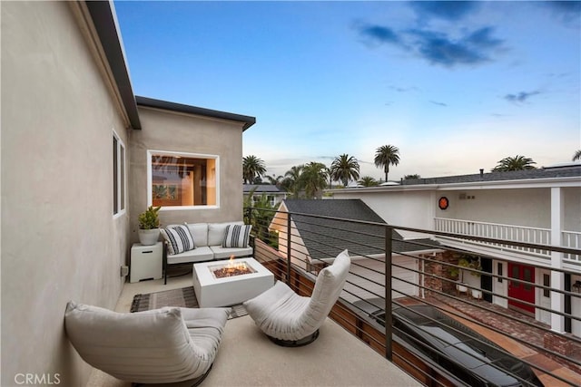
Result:
[[[512,172],[481,171],[474,175],[403,180],[399,186],[334,189],[329,192],[335,199],[360,198],[394,226],[581,247],[581,164]],[[404,237],[413,237],[411,233],[401,233]],[[494,275],[567,291],[581,281],[581,256],[448,237],[438,237],[437,240],[442,247],[494,257],[485,260],[486,265],[483,265],[485,271]],[[537,269],[531,265],[536,265]],[[568,274],[560,275],[559,269],[567,270]],[[506,297],[572,315],[581,315],[581,299],[572,300],[573,297],[544,292],[535,286],[509,286],[508,281],[490,281],[489,276],[469,279],[474,282],[470,285],[494,292],[495,296],[489,301],[532,314],[537,320],[551,324],[557,332],[581,336],[580,322],[508,301]]]

